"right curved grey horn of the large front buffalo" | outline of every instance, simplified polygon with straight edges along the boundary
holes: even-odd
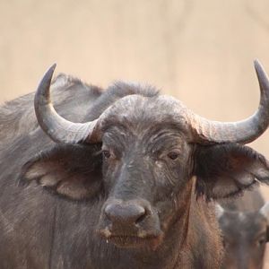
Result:
[[[210,121],[190,112],[188,119],[198,143],[250,143],[263,134],[269,125],[269,81],[263,66],[254,61],[260,86],[260,104],[256,113],[238,122]]]

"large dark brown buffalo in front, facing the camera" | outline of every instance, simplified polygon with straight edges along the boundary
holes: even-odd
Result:
[[[259,108],[230,123],[150,86],[51,83],[50,67],[37,121],[32,94],[0,108],[0,268],[220,268],[211,201],[269,182],[268,161],[244,145],[269,125],[255,67]]]

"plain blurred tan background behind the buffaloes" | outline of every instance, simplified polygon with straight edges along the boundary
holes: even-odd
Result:
[[[266,0],[1,0],[0,102],[33,91],[56,62],[103,87],[152,83],[204,117],[248,117],[253,59],[269,73],[268,11]],[[253,144],[267,158],[268,142]]]

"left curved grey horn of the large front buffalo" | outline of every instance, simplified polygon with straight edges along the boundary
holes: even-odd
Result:
[[[55,142],[79,143],[91,138],[98,119],[88,123],[73,123],[59,116],[50,100],[50,82],[56,64],[48,68],[35,95],[34,105],[39,126]]]

